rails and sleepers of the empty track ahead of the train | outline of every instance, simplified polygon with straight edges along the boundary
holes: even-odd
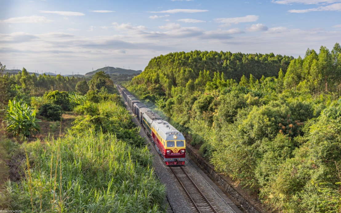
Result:
[[[175,175],[176,179],[179,181],[185,193],[190,198],[196,211],[198,211],[199,213],[218,213],[217,207],[214,207],[212,203],[206,198],[206,196],[201,192],[201,190],[194,183],[188,173],[182,168],[182,166],[169,168]]]

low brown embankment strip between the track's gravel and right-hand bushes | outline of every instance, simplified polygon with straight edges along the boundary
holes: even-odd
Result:
[[[261,208],[255,207],[252,201],[245,198],[241,193],[239,193],[233,186],[231,186],[224,178],[223,175],[218,174],[214,171],[214,167],[209,164],[203,157],[201,157],[189,143],[186,145],[186,153],[191,156],[191,158],[196,162],[196,164],[201,167],[202,170],[210,177],[211,180],[218,183],[223,190],[230,195],[230,198],[238,206],[249,213],[260,213],[265,212]]]

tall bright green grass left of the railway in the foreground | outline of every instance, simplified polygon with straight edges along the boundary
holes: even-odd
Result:
[[[22,145],[27,151],[27,177],[19,183],[8,182],[3,194],[12,209],[165,212],[165,187],[155,178],[148,148],[134,143],[139,136],[131,116],[113,102],[103,102],[99,109],[108,118],[101,125],[113,125],[105,132],[75,128],[58,140]],[[124,136],[126,131],[131,136]]]

